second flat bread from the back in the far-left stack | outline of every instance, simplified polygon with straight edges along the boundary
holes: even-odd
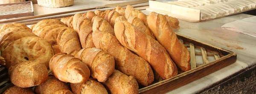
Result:
[[[8,30],[8,29],[6,29]],[[3,40],[5,40],[8,36],[14,34],[14,33],[17,33],[17,32],[21,32],[21,31],[25,31],[25,32],[30,32],[28,30],[22,30],[22,29],[17,29],[17,30],[8,30],[8,31],[4,31],[4,32],[1,32],[1,37],[0,37],[0,44],[3,42]]]

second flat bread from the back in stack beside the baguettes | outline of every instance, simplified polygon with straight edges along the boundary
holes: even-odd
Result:
[[[61,25],[61,24],[54,24],[54,25],[49,25],[44,27],[43,29],[41,29],[38,33],[35,33],[37,36],[44,38],[44,36],[46,35],[46,33],[49,32],[49,30],[58,28],[58,27],[67,27],[65,25]]]

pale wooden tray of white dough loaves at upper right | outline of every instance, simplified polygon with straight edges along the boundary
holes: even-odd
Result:
[[[216,1],[221,2],[221,0],[216,0]],[[180,2],[182,2],[182,1],[180,1]],[[186,0],[184,0],[183,2],[186,2]],[[233,2],[235,2],[235,1],[233,1]],[[233,8],[227,8],[227,9],[230,9],[230,10],[220,9],[221,11],[225,11],[223,13],[218,12],[218,14],[222,14],[222,15],[216,16],[216,17],[213,17],[213,18],[204,18],[203,19],[202,17],[206,17],[206,16],[202,16],[202,14],[204,14],[203,13],[204,11],[201,11],[200,9],[195,9],[195,8],[201,7],[201,8],[205,9],[205,7],[212,7],[210,5],[218,5],[220,3],[210,4],[210,5],[207,5],[207,6],[195,6],[195,7],[177,6],[177,5],[172,4],[172,3],[179,3],[179,2],[163,3],[163,2],[157,2],[157,1],[149,1],[149,8],[147,8],[146,10],[154,11],[154,12],[157,12],[159,14],[166,14],[166,15],[169,15],[171,17],[175,17],[177,19],[185,20],[187,22],[201,22],[201,21],[216,19],[216,18],[220,18],[220,17],[233,15],[233,14],[239,14],[239,13],[242,13],[242,12],[245,12],[245,11],[250,11],[250,10],[256,9],[256,3],[250,3],[251,5],[248,5],[248,6],[250,6],[251,8],[248,8],[246,6],[246,7],[243,7],[242,11],[236,11],[236,12],[231,12],[231,13],[229,13],[230,10],[233,11],[233,10],[236,10],[236,9],[233,9]],[[187,3],[189,3],[189,1]],[[189,4],[187,4],[187,5],[189,5]],[[191,3],[191,5],[192,5],[192,3]],[[220,7],[217,7],[217,8],[220,8]],[[239,8],[242,8],[242,7],[239,6]],[[214,10],[215,8],[212,8],[212,9]],[[229,12],[227,12],[227,11],[229,11]],[[212,11],[207,10],[207,13],[208,14],[216,14],[216,11],[212,12]],[[224,13],[228,13],[228,14],[224,14]]]

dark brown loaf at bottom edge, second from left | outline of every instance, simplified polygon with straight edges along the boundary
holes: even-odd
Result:
[[[52,75],[48,77],[46,82],[35,87],[36,94],[58,94],[61,91],[67,91],[66,93],[62,94],[73,94],[73,92],[70,91],[70,87],[67,85],[67,83],[58,80]]]

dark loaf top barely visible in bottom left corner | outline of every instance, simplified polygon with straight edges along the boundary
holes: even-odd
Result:
[[[20,88],[17,86],[12,86],[6,91],[3,92],[3,94],[35,94],[32,90],[32,88]]]

